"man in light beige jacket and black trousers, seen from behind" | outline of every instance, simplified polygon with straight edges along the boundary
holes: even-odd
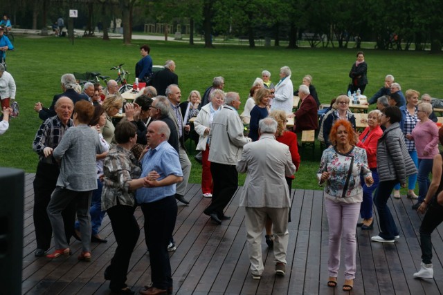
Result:
[[[230,219],[223,211],[237,191],[238,172],[235,164],[243,146],[252,141],[243,135],[242,119],[237,113],[240,104],[238,93],[228,92],[224,99],[224,107],[214,117],[209,132],[208,160],[214,187],[213,198],[204,213],[217,225],[221,225],[221,220]]]

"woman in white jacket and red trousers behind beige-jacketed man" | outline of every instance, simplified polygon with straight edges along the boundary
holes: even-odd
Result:
[[[210,94],[210,103],[201,108],[199,115],[194,121],[195,132],[200,135],[197,151],[201,151],[201,191],[205,198],[213,196],[213,175],[210,173],[209,155],[209,131],[215,114],[223,108],[224,92],[215,89]]]

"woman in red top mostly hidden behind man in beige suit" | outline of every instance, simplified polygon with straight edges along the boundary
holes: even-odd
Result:
[[[289,152],[291,153],[292,162],[296,166],[296,171],[298,171],[298,167],[300,166],[300,155],[298,154],[297,135],[296,133],[293,133],[286,129],[286,113],[282,110],[271,111],[271,113],[269,113],[269,117],[272,117],[275,121],[277,121],[277,134],[275,135],[275,140],[289,146]],[[294,175],[292,175],[291,177],[286,176],[285,178],[289,187],[289,196],[291,196],[292,181],[295,179],[295,177]],[[290,207],[289,222],[291,222]],[[266,236],[264,236],[264,238],[266,239],[266,244],[268,245],[269,249],[271,249],[274,245],[271,218],[266,219],[265,229]]]

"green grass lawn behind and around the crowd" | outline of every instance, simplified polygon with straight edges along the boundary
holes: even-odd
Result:
[[[124,63],[132,73],[139,55],[139,46],[150,44],[154,64],[162,65],[167,59],[177,64],[182,99],[193,89],[202,94],[212,84],[213,77],[223,76],[225,91],[236,91],[246,102],[249,88],[263,69],[271,71],[273,82],[278,82],[281,66],[292,70],[294,88],[301,84],[306,74],[314,77],[320,101],[328,103],[333,97],[344,93],[349,82],[347,74],[355,61],[356,50],[332,48],[287,48],[250,49],[247,46],[225,45],[205,49],[201,45],[189,46],[172,41],[141,41],[125,46],[121,40],[69,39],[56,37],[15,37],[15,51],[8,52],[8,71],[17,84],[19,117],[11,120],[10,129],[0,136],[0,166],[16,167],[26,172],[35,172],[37,155],[32,151],[35,132],[42,123],[33,111],[35,102],[49,106],[53,95],[61,93],[60,77],[64,73],[99,71],[102,75],[116,77],[112,66]],[[402,89],[414,88],[420,93],[443,97],[441,84],[443,59],[441,55],[424,52],[399,52],[365,50],[368,63],[369,85],[365,95],[372,96],[382,85],[387,74],[395,76]],[[243,108],[243,104],[241,108]],[[194,149],[194,148],[192,148]],[[192,155],[195,151],[190,151]],[[320,161],[317,145],[314,156],[311,151],[301,151],[302,164],[296,175],[294,187],[318,189],[316,170]],[[200,182],[201,166],[190,156],[193,167],[190,182]],[[244,177],[241,178],[241,184]]]

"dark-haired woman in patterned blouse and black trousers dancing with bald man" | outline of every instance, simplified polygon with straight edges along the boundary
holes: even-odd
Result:
[[[109,289],[118,294],[134,294],[126,285],[126,274],[132,251],[140,235],[134,211],[136,189],[147,187],[147,177],[139,178],[141,168],[131,152],[137,142],[136,126],[122,121],[116,126],[116,142],[105,158],[102,208],[111,220],[117,248],[111,265],[105,270]]]

